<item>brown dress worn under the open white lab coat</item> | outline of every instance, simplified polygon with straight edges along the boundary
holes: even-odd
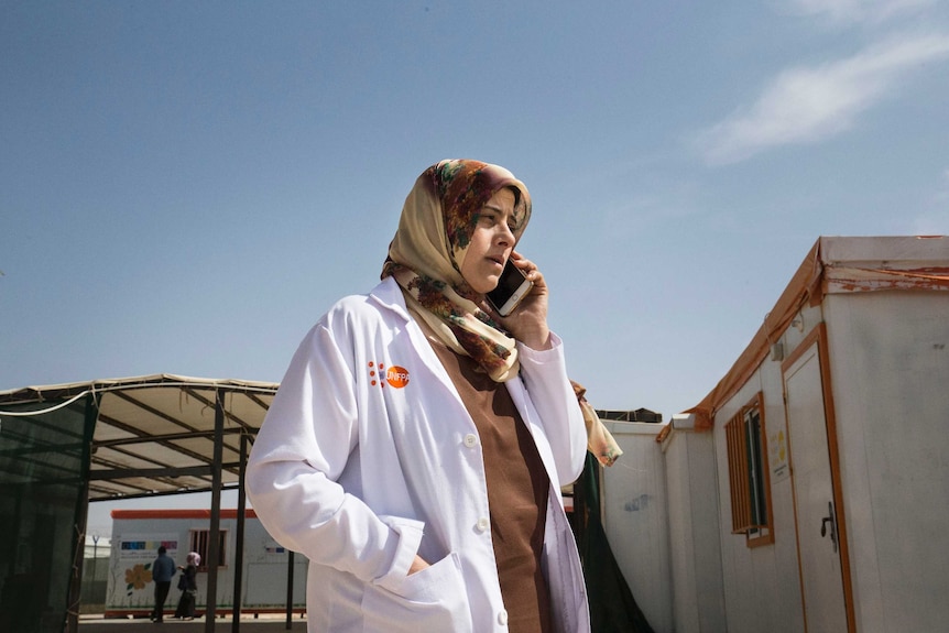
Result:
[[[430,336],[429,341],[481,439],[508,627],[512,633],[550,632],[550,593],[541,569],[550,480],[537,447],[503,383],[491,380],[471,358]]]

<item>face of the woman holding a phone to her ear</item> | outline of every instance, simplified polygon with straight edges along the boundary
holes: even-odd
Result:
[[[513,215],[514,192],[506,187],[498,189],[481,208],[461,262],[461,276],[479,294],[498,286],[501,271],[514,250]]]

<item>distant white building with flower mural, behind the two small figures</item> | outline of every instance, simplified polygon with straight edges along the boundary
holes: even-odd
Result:
[[[244,522],[243,589],[241,611],[247,613],[282,612],[286,609],[290,553],[279,545],[261,525],[253,510]],[[157,549],[164,545],[176,564],[185,565],[189,552],[201,555],[198,570],[197,610],[207,605],[209,510],[113,510],[106,596],[106,618],[145,616],[154,605],[151,566]],[[234,554],[237,552],[237,511],[220,512],[220,566],[217,578],[217,611],[233,607]],[[293,609],[304,611],[306,603],[307,560],[294,556]],[[171,614],[181,591],[177,576],[165,604]]]

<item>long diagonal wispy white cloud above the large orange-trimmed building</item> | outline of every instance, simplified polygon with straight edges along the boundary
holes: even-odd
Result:
[[[949,35],[891,40],[817,67],[781,73],[750,108],[701,132],[709,163],[734,163],[770,148],[817,143],[850,129],[890,95],[906,72],[949,56]]]

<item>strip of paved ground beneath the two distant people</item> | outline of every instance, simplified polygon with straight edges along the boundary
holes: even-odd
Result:
[[[148,618],[138,620],[106,620],[100,615],[80,615],[79,616],[79,633],[204,633],[204,618],[183,622],[174,618],[165,620],[163,624],[155,624],[149,621]],[[286,615],[260,615],[254,619],[253,615],[244,615],[240,619],[240,633],[283,633],[292,631],[293,633],[306,633],[306,619],[302,619],[299,614],[294,614],[293,623],[290,629],[286,626]],[[215,620],[215,633],[226,633],[233,631],[233,619],[218,618]]]

